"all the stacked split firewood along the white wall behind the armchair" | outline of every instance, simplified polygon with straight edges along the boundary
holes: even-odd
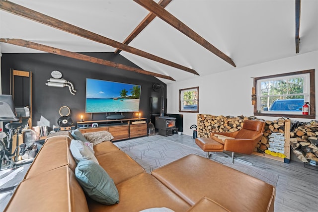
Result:
[[[210,133],[236,132],[243,126],[245,119],[255,119],[246,116],[213,116],[208,114],[198,114],[197,133],[199,138],[209,138]],[[255,119],[259,120],[259,119]],[[273,134],[290,134],[290,145],[296,156],[303,162],[318,162],[318,123],[301,124],[295,128],[286,128],[286,119],[280,118],[274,121],[265,121],[265,129],[261,141],[258,142],[255,151],[264,152],[270,147],[270,136]],[[289,122],[288,122],[289,123]],[[288,132],[285,132],[285,129]],[[273,137],[273,136],[272,136]],[[286,139],[286,138],[285,138]],[[272,139],[273,140],[273,139]],[[286,146],[286,143],[284,144]],[[285,149],[286,150],[286,149]],[[289,151],[289,147],[287,148]],[[285,152],[286,153],[286,152]],[[318,163],[317,163],[318,164]]]

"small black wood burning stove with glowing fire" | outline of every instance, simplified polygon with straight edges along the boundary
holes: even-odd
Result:
[[[156,128],[158,129],[160,136],[170,136],[175,131],[175,120],[174,117],[168,116],[157,116],[156,117]]]

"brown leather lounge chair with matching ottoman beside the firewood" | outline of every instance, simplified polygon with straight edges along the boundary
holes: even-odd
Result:
[[[242,129],[234,133],[211,133],[210,138],[196,138],[195,143],[207,152],[207,158],[211,151],[231,151],[232,163],[234,153],[251,154],[261,140],[265,128],[265,122],[244,120]]]

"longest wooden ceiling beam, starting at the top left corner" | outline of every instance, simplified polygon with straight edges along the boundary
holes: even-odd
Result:
[[[132,53],[132,54],[144,57],[144,58],[148,58],[148,59],[153,60],[153,61],[157,61],[159,63],[174,67],[176,69],[180,69],[183,71],[187,71],[187,72],[199,75],[193,69],[189,69],[189,68],[184,67],[182,65],[179,65],[179,64],[173,63],[171,61],[165,60],[163,58],[160,58],[158,56],[152,55],[148,52],[144,52],[142,50],[128,46],[126,44],[122,44],[118,41],[115,41],[115,40],[112,40],[110,38],[98,35],[96,33],[90,32],[88,30],[82,29],[78,26],[66,23],[66,22],[61,21],[59,19],[50,17],[48,15],[42,14],[40,12],[37,12],[35,10],[29,9],[27,7],[21,6],[19,4],[16,4],[16,3],[13,3],[13,2],[10,2],[7,0],[0,0],[0,9],[7,11],[7,12],[10,12],[12,14],[19,15],[21,17],[28,18],[30,20],[48,25],[48,26],[51,26],[51,27],[54,27],[56,29],[63,30],[65,32],[72,33],[74,35],[78,35],[80,37],[83,37],[83,38],[86,38],[86,39],[89,39],[89,40],[92,40],[95,42],[107,44],[107,45],[110,45],[114,48],[118,48],[118,49],[121,49],[123,51],[129,52],[129,53]]]

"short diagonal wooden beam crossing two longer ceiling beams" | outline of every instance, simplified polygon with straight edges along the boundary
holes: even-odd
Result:
[[[166,7],[168,5],[168,3],[170,3],[172,0],[160,0],[158,2],[158,4],[160,6],[162,6],[163,8]],[[154,20],[154,18],[156,17],[155,14],[153,13],[149,13],[144,20],[142,20],[140,22],[140,24],[138,24],[138,26],[132,31],[132,33],[130,33],[130,35],[126,38],[126,40],[123,42],[123,44],[128,45],[132,40],[134,40],[134,38],[141,32],[143,31],[143,29],[146,28],[146,26],[148,26],[148,24],[150,24],[150,22],[152,22],[152,20]],[[121,50],[120,49],[116,49],[115,54],[120,53]]]

